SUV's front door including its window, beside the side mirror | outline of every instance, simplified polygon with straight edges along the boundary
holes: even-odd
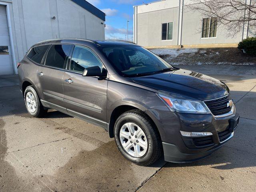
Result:
[[[70,66],[64,72],[64,102],[69,113],[106,127],[106,100],[108,80],[84,77],[84,68],[104,67],[89,48],[75,46]]]

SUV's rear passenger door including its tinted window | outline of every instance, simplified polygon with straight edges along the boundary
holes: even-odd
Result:
[[[54,44],[50,47],[44,65],[38,67],[38,86],[46,104],[65,110],[63,85],[64,64],[68,59],[71,45]]]

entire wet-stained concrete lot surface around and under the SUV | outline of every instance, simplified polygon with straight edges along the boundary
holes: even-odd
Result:
[[[241,191],[256,189],[256,68],[178,66],[225,82],[240,124],[234,138],[198,162],[128,162],[104,129],[49,110],[26,113],[18,76],[0,76],[0,191]]]

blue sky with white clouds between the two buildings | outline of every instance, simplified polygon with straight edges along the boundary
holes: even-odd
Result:
[[[126,21],[128,23],[129,40],[133,40],[133,6],[156,0],[87,0],[106,13],[106,39],[125,40]]]

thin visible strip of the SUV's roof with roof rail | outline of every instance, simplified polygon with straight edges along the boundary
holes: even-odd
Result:
[[[53,44],[53,43],[82,43],[89,42],[92,44],[96,44],[98,46],[111,46],[111,45],[136,45],[133,42],[124,41],[124,40],[89,40],[89,39],[81,39],[81,38],[57,38],[57,39],[49,39],[38,42],[34,46],[39,46],[43,44]]]

